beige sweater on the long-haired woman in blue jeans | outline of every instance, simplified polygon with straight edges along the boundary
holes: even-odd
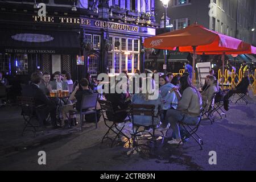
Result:
[[[183,91],[177,109],[195,117],[200,115],[201,105],[202,99],[199,93],[195,89],[188,87]]]

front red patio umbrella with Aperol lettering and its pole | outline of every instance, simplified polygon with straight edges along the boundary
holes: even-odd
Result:
[[[179,47],[181,52],[193,52],[193,72],[195,72],[197,51],[226,52],[237,49],[249,49],[248,44],[242,42],[242,40],[208,30],[197,23],[182,30],[147,38],[144,40],[144,47],[169,50]]]

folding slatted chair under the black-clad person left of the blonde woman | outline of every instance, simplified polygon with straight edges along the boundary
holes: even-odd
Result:
[[[127,137],[123,132],[123,128],[125,127],[125,125],[123,125],[121,127],[121,129],[118,129],[118,124],[119,123],[126,123],[128,121],[130,121],[130,117],[128,116],[129,119],[125,119],[124,121],[118,121],[116,120],[116,118],[108,118],[107,115],[105,116],[104,113],[106,114],[106,112],[108,112],[108,115],[118,115],[118,113],[122,113],[122,112],[127,112],[127,110],[118,110],[118,111],[114,111],[113,106],[112,106],[112,102],[110,101],[104,101],[104,100],[98,100],[100,106],[101,106],[101,112],[102,112],[102,116],[104,119],[104,123],[106,125],[106,127],[108,127],[108,131],[105,133],[104,137],[101,140],[101,143],[104,142],[104,139],[110,139],[112,141],[111,143],[111,147],[113,147],[113,144],[115,142],[115,140],[120,139],[120,136],[125,137],[128,142],[129,142],[129,147],[131,146],[130,143],[130,138]],[[109,137],[110,132],[113,132],[115,134],[114,139],[112,139],[111,137]]]

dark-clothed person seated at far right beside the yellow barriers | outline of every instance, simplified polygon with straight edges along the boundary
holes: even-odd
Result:
[[[233,96],[234,93],[244,93],[246,94],[248,92],[248,86],[250,85],[250,80],[249,80],[249,72],[245,71],[243,72],[243,78],[241,82],[236,86],[236,88],[229,90],[229,92],[226,94],[224,97],[224,109],[229,110],[228,107],[228,99]]]

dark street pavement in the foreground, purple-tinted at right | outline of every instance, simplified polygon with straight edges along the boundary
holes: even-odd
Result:
[[[248,100],[248,105],[231,104],[224,119],[215,115],[213,125],[203,119],[198,131],[203,150],[192,139],[179,148],[164,139],[154,154],[129,156],[123,143],[113,148],[109,141],[101,143],[107,130],[102,118],[98,129],[86,123],[82,132],[75,127],[22,137],[19,107],[1,107],[0,170],[256,170],[256,102]],[[46,152],[46,165],[38,164],[39,151]],[[217,164],[209,164],[210,151],[216,152]]]

